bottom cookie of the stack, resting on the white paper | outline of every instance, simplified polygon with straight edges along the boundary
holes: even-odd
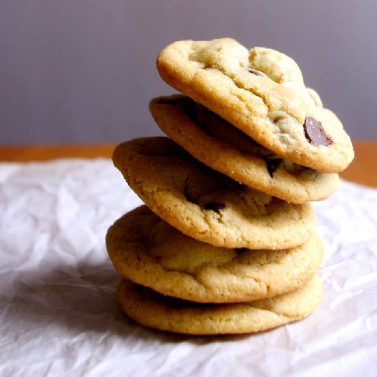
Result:
[[[311,314],[321,300],[315,276],[295,291],[239,304],[198,304],[160,295],[128,280],[117,297],[125,314],[143,326],[191,335],[244,334],[276,328]]]

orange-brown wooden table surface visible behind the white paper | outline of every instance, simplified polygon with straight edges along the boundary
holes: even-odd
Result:
[[[1,146],[0,162],[47,161],[55,158],[110,158],[114,144]],[[341,173],[353,182],[377,187],[377,140],[354,141],[355,159]]]

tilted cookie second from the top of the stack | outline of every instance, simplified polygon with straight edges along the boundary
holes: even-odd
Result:
[[[161,130],[197,160],[254,189],[295,204],[326,199],[337,189],[337,173],[279,158],[189,97],[158,97],[149,109]]]

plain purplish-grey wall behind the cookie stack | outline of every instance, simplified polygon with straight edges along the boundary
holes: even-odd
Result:
[[[293,57],[352,137],[376,138],[376,0],[1,0],[0,143],[160,134],[158,51],[232,36]]]

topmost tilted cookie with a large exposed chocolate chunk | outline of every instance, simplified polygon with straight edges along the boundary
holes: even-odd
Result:
[[[339,119],[278,51],[248,50],[230,38],[182,40],[163,49],[156,65],[167,84],[282,158],[324,173],[354,158]]]

